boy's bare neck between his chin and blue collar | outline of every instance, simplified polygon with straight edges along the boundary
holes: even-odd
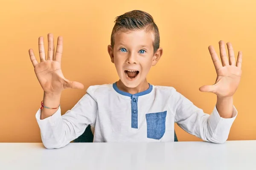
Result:
[[[140,83],[140,85],[138,85],[135,88],[128,88],[128,87],[126,87],[122,83],[122,81],[119,79],[118,82],[116,82],[116,86],[117,86],[117,88],[119,90],[125,91],[125,92],[127,92],[129,94],[137,94],[137,93],[140,93],[142,91],[148,90],[148,88],[149,88],[149,84],[148,84],[147,79],[145,79],[143,82]]]

